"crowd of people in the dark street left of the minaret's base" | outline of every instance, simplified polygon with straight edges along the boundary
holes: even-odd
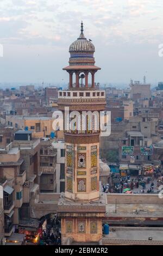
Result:
[[[60,220],[55,215],[40,237],[40,245],[61,245]]]

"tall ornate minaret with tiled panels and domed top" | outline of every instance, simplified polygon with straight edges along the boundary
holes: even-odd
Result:
[[[58,105],[64,114],[68,107],[70,115],[76,111],[80,118],[76,114],[76,121],[64,120],[66,185],[58,204],[61,234],[63,239],[99,241],[105,216],[105,198],[99,193],[99,112],[106,102],[105,91],[95,87],[95,73],[101,68],[95,66],[95,46],[84,36],[83,22],[69,52],[69,65],[63,69],[69,74],[69,89],[59,91]]]

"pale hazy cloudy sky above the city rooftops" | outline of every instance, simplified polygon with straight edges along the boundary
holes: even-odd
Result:
[[[81,20],[102,68],[96,82],[163,80],[162,0],[1,0],[0,82],[67,82],[62,68]]]

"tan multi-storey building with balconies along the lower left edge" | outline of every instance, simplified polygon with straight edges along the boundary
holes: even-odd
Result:
[[[4,235],[10,236],[14,224],[18,224],[20,209],[23,204],[23,184],[26,181],[24,160],[20,149],[10,143],[0,149],[0,178],[3,186]]]

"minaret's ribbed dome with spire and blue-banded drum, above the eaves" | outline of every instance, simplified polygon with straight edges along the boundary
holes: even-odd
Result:
[[[81,33],[79,38],[74,41],[70,47],[70,65],[95,65],[95,58],[93,53],[95,52],[95,46],[91,40],[86,40],[83,34],[83,22],[81,23]]]

